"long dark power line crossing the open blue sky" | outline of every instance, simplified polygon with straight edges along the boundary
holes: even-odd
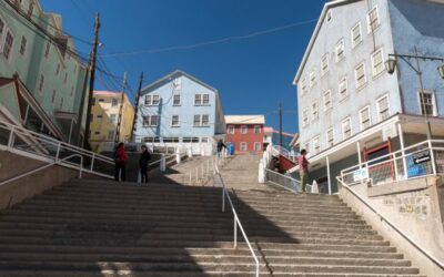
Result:
[[[211,40],[211,41],[205,41],[205,42],[199,42],[195,44],[188,44],[188,45],[175,45],[175,47],[168,47],[168,48],[159,48],[159,49],[145,49],[145,50],[135,50],[135,51],[129,51],[129,52],[117,52],[117,53],[110,53],[110,54],[102,54],[101,57],[103,58],[111,58],[111,57],[118,57],[118,55],[137,55],[137,54],[152,54],[152,53],[161,53],[161,52],[169,52],[169,51],[176,51],[176,50],[190,50],[190,49],[195,49],[195,48],[201,48],[201,47],[208,47],[212,44],[220,44],[220,43],[226,43],[230,41],[236,41],[236,40],[246,40],[246,39],[252,39],[259,35],[264,35],[269,33],[274,33],[279,32],[285,29],[299,27],[299,25],[304,25],[304,24],[310,24],[312,22],[316,22],[317,19],[311,19],[306,21],[300,21],[286,25],[281,25],[281,27],[275,27],[272,29],[266,29],[262,31],[256,31],[253,33],[244,34],[244,35],[232,35],[232,37],[226,37],[222,39],[216,39],[216,40]]]

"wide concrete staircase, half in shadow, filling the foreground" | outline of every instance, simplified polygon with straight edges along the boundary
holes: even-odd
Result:
[[[258,184],[255,156],[222,175],[263,276],[417,276],[336,196]],[[219,187],[75,179],[0,214],[0,276],[253,276]]]

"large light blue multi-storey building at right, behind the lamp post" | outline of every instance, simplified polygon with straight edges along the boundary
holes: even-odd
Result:
[[[384,65],[393,53],[444,58],[443,14],[442,0],[325,3],[294,79],[299,142],[325,192],[337,189],[335,176],[363,161],[364,148],[424,141],[425,113],[433,137],[444,136],[442,62],[410,60],[423,72],[423,94],[405,61],[397,59],[394,74]]]

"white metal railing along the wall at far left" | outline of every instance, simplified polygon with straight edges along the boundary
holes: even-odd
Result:
[[[113,178],[112,158],[6,122],[0,122],[0,150]],[[71,161],[65,160],[69,156]],[[72,157],[79,160],[72,161]]]

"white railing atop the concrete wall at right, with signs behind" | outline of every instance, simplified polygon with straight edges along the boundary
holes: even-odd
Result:
[[[341,171],[349,184],[371,186],[444,174],[444,140],[427,140]]]

